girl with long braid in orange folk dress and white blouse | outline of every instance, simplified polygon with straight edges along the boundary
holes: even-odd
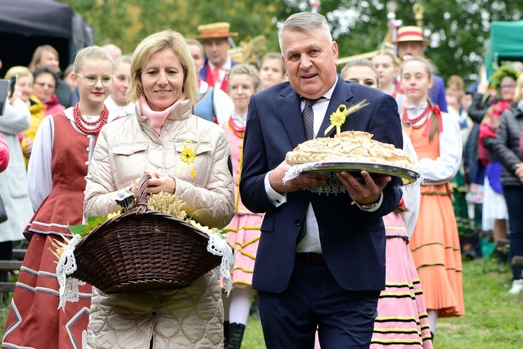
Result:
[[[414,144],[421,186],[418,222],[410,242],[418,268],[430,330],[438,316],[464,315],[462,262],[450,186],[462,156],[460,125],[428,100],[432,65],[413,57],[400,66],[402,88],[407,95],[402,107],[403,130]]]

